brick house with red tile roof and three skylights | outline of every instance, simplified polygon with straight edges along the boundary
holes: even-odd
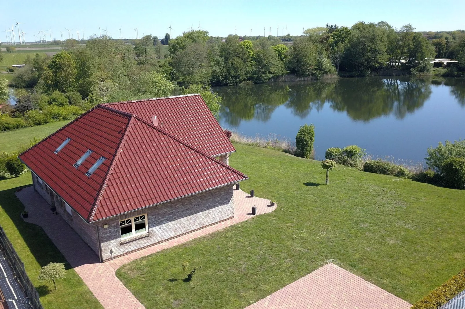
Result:
[[[19,155],[106,261],[231,219],[235,151],[200,95],[100,104]],[[53,209],[53,208],[52,208]]]

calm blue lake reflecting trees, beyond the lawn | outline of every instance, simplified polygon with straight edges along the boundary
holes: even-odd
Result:
[[[219,122],[245,135],[295,139],[315,125],[318,159],[330,147],[358,145],[375,157],[424,161],[438,142],[465,138],[465,79],[339,78],[214,87]]]

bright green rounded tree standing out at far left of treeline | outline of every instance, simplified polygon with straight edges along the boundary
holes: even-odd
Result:
[[[76,62],[68,51],[55,54],[44,72],[44,82],[48,91],[67,92],[76,88]]]

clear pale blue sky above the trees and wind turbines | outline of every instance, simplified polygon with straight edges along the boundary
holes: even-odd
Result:
[[[438,4],[438,2],[440,4]],[[226,36],[234,33],[237,26],[239,35],[266,35],[270,26],[279,35],[282,26],[292,35],[302,33],[302,28],[325,26],[326,23],[339,26],[351,26],[363,20],[377,22],[385,20],[396,28],[411,23],[417,31],[452,31],[465,29],[463,13],[464,0],[449,1],[120,1],[120,0],[78,0],[78,1],[3,1],[0,30],[6,30],[14,19],[23,22],[21,30],[28,33],[27,41],[33,40],[33,34],[40,30],[52,30],[52,37],[61,38],[61,32],[67,37],[65,28],[82,29],[86,38],[99,33],[99,26],[106,28],[113,38],[119,38],[120,29],[123,38],[134,38],[152,34],[163,36],[169,32],[166,28],[172,23],[173,37],[188,31],[193,25],[206,29],[213,36]],[[48,31],[47,31],[48,33]],[[103,32],[102,32],[103,34]],[[17,36],[17,34],[16,34]],[[5,32],[0,32],[1,41],[5,41]],[[47,35],[48,39],[48,35]],[[16,39],[18,40],[18,38]]]

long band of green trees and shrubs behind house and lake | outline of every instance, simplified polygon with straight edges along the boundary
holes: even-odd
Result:
[[[27,58],[25,68],[15,70],[11,84],[17,89],[16,104],[3,103],[9,101],[8,90],[0,82],[0,93],[4,93],[0,130],[73,119],[98,103],[173,93],[200,92],[216,114],[221,97],[210,86],[263,83],[289,72],[315,79],[338,71],[351,75],[385,69],[428,72],[435,48],[442,51],[434,40],[444,39],[447,53],[458,59],[450,68],[452,73],[465,71],[465,34],[447,38],[427,39],[411,25],[398,31],[385,22],[359,22],[350,28],[307,29],[299,38],[230,35],[222,39],[203,30],[185,32],[176,39],[166,34],[162,43],[168,43],[168,54],[166,46],[151,35],[134,44],[107,36],[86,40],[85,46],[66,40],[53,57],[36,54]],[[292,39],[292,46],[283,44]]]

